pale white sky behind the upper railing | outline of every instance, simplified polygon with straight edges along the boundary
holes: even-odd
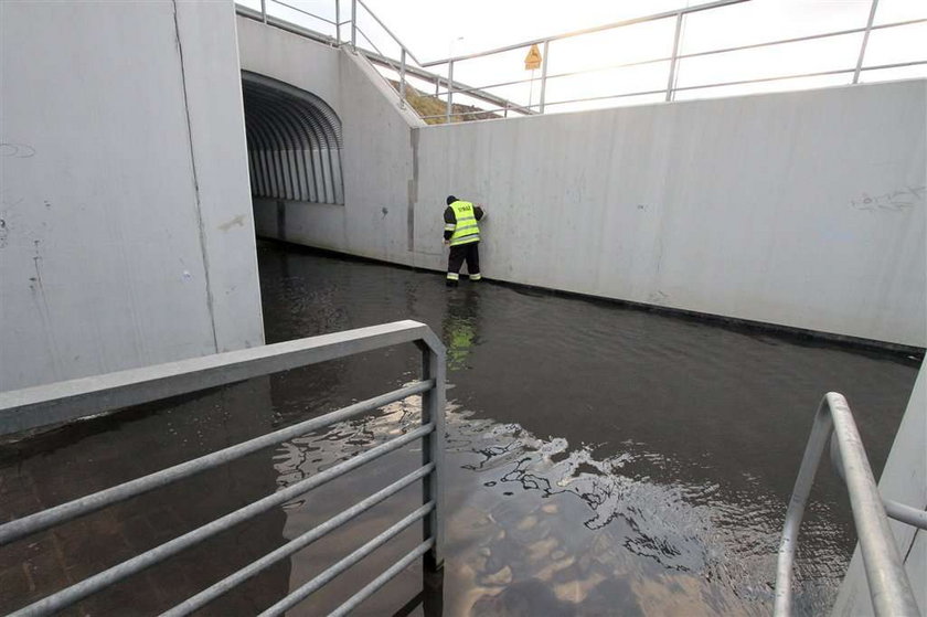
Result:
[[[300,9],[334,19],[334,0],[284,0]],[[531,39],[561,34],[629,18],[650,15],[703,0],[365,0],[372,11],[398,36],[422,62],[429,62],[505,46]],[[257,7],[259,0],[245,0]],[[301,15],[267,0],[268,10],[312,30],[334,34],[333,26]],[[685,18],[681,53],[746,45],[805,36],[866,24],[871,0],[750,0],[733,7],[703,11]],[[350,19],[351,0],[341,0],[341,19]],[[385,55],[399,56],[399,47],[361,7],[359,24]],[[927,19],[927,0],[878,0],[875,24]],[[551,43],[548,75],[608,67],[615,64],[669,56],[672,50],[674,19],[637,24],[603,33]],[[345,25],[342,38],[350,38]],[[681,61],[676,86],[697,86],[739,79],[775,77],[790,74],[824,72],[855,67],[862,34],[849,34],[817,41],[776,45]],[[359,44],[370,47],[359,36]],[[507,52],[455,64],[455,79],[471,86],[526,79],[524,70],[528,49]],[[873,31],[866,47],[864,65],[927,61],[927,23]],[[429,71],[446,74],[446,66]],[[536,105],[539,79],[493,88],[494,94],[519,104],[529,98]],[[927,76],[927,65],[863,72],[861,81]],[[564,111],[615,105],[662,100],[661,94],[611,98],[556,105],[576,98],[603,97],[622,93],[665,88],[669,63],[639,67],[609,68],[578,76],[548,79],[547,111]],[[800,89],[849,84],[852,73],[824,77],[788,79],[760,84],[692,89],[676,93],[675,98],[704,98]],[[429,86],[414,83],[428,91]],[[430,86],[434,88],[434,86]],[[431,89],[434,94],[434,89]],[[457,103],[473,103],[455,95]]]

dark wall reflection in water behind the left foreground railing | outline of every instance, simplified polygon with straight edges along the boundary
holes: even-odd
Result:
[[[0,443],[0,520],[83,497],[268,433],[266,379],[140,405]],[[0,547],[0,614],[153,549],[274,492],[267,453],[82,517]],[[286,513],[275,509],[215,535],[63,615],[158,615],[275,550]],[[278,562],[198,615],[254,615],[286,595]]]

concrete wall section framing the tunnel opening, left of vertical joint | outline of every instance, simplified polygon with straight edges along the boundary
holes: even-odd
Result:
[[[243,70],[319,96],[343,129],[344,205],[258,199],[258,234],[412,264],[415,170],[409,128],[424,123],[401,109],[398,96],[379,74],[348,51],[242,17],[238,44]]]

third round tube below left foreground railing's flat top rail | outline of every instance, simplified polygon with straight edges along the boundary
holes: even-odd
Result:
[[[327,533],[355,519],[356,517],[359,517],[363,512],[366,512],[367,510],[382,502],[386,498],[392,497],[401,490],[403,490],[404,488],[411,486],[416,480],[424,478],[425,476],[434,471],[434,469],[435,465],[433,462],[429,462],[428,465],[418,468],[416,471],[413,471],[412,474],[407,475],[401,480],[397,480],[388,487],[381,489],[372,496],[367,497],[366,499],[359,501],[348,510],[344,510],[341,513],[330,518],[324,523],[312,528],[311,530],[300,534],[294,540],[290,540],[279,549],[266,554],[256,562],[248,564],[247,566],[243,567],[236,573],[223,578],[219,583],[215,583],[214,585],[203,589],[195,596],[192,596],[191,598],[177,605],[170,610],[163,613],[161,617],[182,617],[185,615],[190,615],[194,610],[199,610],[212,600],[232,591],[235,586],[264,572],[278,561],[292,555],[297,551],[301,551],[302,549],[310,545],[316,540],[322,538]]]

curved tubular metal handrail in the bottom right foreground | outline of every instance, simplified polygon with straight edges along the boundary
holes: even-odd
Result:
[[[881,498],[850,405],[843,395],[835,392],[829,392],[818,407],[786,512],[776,567],[775,615],[791,615],[792,566],[798,549],[798,532],[829,437],[831,459],[850,493],[850,504],[875,614],[908,617],[920,615],[887,517],[927,529],[927,514]]]

